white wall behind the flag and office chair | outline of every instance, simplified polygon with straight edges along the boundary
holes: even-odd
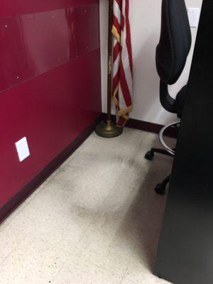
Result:
[[[178,1],[178,0],[177,0]],[[107,33],[108,3],[100,0],[102,48],[102,111],[107,112]],[[186,0],[187,7],[201,7],[202,0]],[[155,69],[155,48],[160,37],[161,0],[131,0],[131,33],[134,65],[134,97],[131,118],[168,124],[177,116],[160,105],[159,78]],[[192,28],[192,49],[185,70],[178,82],[170,87],[173,97],[186,84],[190,73],[197,28]]]

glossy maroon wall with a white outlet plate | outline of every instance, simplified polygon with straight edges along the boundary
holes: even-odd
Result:
[[[0,207],[101,112],[99,1],[3,0]],[[31,156],[18,161],[15,143]]]

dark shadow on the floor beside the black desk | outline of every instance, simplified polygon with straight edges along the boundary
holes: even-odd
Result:
[[[151,147],[159,147],[156,142],[153,144]],[[123,238],[131,240],[131,249],[138,254],[143,266],[153,272],[168,192],[165,196],[157,195],[155,186],[171,173],[173,158],[156,154],[153,161],[147,161],[147,165],[148,173],[141,178],[141,185],[136,189],[119,231],[122,231]]]

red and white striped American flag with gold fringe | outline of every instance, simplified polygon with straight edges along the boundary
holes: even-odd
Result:
[[[113,99],[118,111],[118,126],[124,126],[132,110],[133,59],[129,23],[130,0],[114,0],[114,77]]]

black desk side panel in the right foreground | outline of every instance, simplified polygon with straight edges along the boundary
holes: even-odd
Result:
[[[155,274],[213,283],[213,0],[204,0]]]

